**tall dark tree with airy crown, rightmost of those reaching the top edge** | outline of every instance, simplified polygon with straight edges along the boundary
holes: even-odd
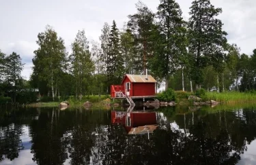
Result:
[[[188,21],[188,43],[191,56],[192,78],[198,89],[202,82],[201,69],[214,55],[223,52],[225,35],[222,30],[223,23],[216,18],[221,14],[221,8],[215,8],[210,0],[195,0],[190,7],[190,18]]]

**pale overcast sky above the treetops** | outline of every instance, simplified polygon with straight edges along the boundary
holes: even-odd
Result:
[[[153,12],[159,0],[141,0]],[[184,18],[189,18],[193,0],[177,0]],[[222,7],[223,29],[229,34],[229,43],[236,43],[242,52],[251,55],[256,48],[256,1],[212,0],[215,7]],[[137,0],[0,0],[0,49],[10,54],[15,51],[26,63],[22,75],[29,78],[33,50],[38,33],[51,25],[63,37],[68,52],[76,33],[85,29],[88,40],[98,40],[104,23],[117,22],[122,28],[128,14],[136,12]],[[255,45],[254,45],[255,44]]]

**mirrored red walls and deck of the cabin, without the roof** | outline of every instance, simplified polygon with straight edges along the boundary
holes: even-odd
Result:
[[[156,112],[111,111],[111,123],[123,125],[129,134],[134,127],[156,125]],[[153,129],[156,129],[156,126]]]

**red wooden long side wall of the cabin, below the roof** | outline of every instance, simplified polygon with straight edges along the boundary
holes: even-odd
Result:
[[[132,84],[133,93],[131,96],[146,96],[155,95],[155,83],[154,82],[137,82]]]

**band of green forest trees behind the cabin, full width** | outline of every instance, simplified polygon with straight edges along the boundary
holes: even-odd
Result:
[[[174,0],[160,0],[154,13],[139,1],[137,12],[117,28],[104,23],[100,42],[89,41],[81,29],[74,36],[71,52],[54,27],[38,33],[33,74],[24,80],[18,52],[0,50],[0,100],[35,102],[35,91],[50,100],[73,96],[108,95],[110,85],[124,74],[149,74],[165,89],[176,91],[253,91],[256,89],[256,49],[251,55],[229,43],[220,7],[210,0],[195,0],[190,18],[184,20]]]

